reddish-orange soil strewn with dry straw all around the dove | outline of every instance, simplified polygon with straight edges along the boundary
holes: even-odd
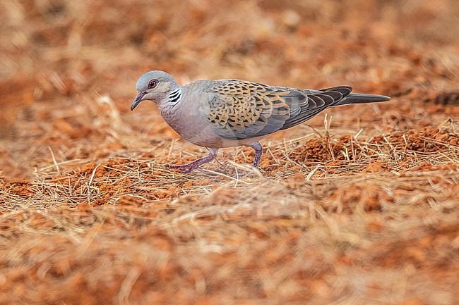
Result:
[[[455,1],[0,6],[0,304],[456,303]],[[185,175],[152,69],[393,100]]]

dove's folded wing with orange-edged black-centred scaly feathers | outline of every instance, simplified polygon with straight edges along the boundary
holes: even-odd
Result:
[[[302,90],[244,80],[217,80],[208,94],[207,120],[226,139],[269,135],[309,120],[347,96],[350,87]]]

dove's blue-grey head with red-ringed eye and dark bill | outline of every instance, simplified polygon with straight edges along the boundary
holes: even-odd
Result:
[[[134,110],[141,101],[148,99],[159,104],[169,97],[169,93],[179,88],[180,85],[175,82],[174,78],[164,71],[150,71],[142,75],[136,83],[137,97],[131,105]]]

